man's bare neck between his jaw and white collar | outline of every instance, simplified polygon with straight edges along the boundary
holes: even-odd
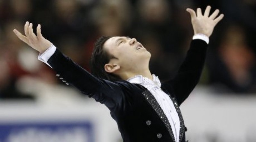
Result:
[[[146,77],[150,80],[153,80],[152,74],[149,71],[149,69],[142,70],[142,71],[136,71],[136,72],[125,72],[125,73],[121,74],[120,76],[121,76],[122,79],[127,80],[127,79],[129,79],[131,77],[134,77],[136,75],[142,75],[143,77]]]

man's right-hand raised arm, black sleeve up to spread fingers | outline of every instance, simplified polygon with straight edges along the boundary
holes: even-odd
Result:
[[[203,41],[200,39],[202,39],[202,37],[208,39],[216,24],[224,16],[223,14],[220,14],[220,16],[217,17],[219,14],[218,9],[209,16],[210,10],[211,7],[207,6],[203,15],[200,8],[197,8],[197,13],[192,9],[187,9],[191,16],[195,35],[193,41],[191,41],[187,56],[180,66],[178,74],[173,80],[163,84],[165,88],[170,89],[171,92],[175,93],[179,104],[185,101],[195,88],[203,70],[208,43],[205,40]]]

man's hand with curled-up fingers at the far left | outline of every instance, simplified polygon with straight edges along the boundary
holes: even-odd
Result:
[[[36,34],[33,33],[33,24],[26,22],[24,26],[25,35],[21,34],[18,30],[14,29],[13,32],[18,36],[18,38],[33,49],[36,49],[40,53],[43,53],[49,47],[51,47],[52,43],[46,40],[41,34],[41,25],[38,24],[36,28]]]

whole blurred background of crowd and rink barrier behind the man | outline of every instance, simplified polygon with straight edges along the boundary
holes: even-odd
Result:
[[[0,142],[119,142],[109,111],[66,86],[12,32],[26,21],[86,70],[101,35],[130,36],[165,81],[193,36],[186,8],[220,9],[200,84],[181,106],[191,142],[256,142],[255,0],[0,0]]]

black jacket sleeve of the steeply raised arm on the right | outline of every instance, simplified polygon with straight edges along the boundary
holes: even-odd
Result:
[[[181,64],[174,79],[164,82],[167,91],[173,92],[179,105],[188,98],[188,95],[199,82],[205,61],[207,43],[203,40],[192,40],[187,56]]]

